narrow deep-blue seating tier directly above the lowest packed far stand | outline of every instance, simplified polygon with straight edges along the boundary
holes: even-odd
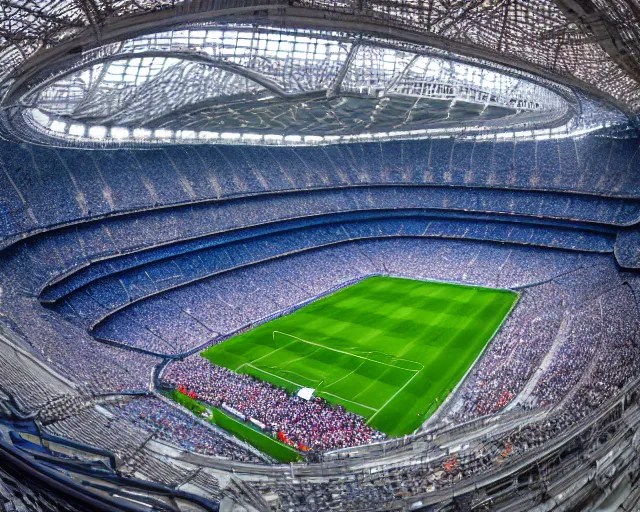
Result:
[[[352,240],[389,237],[462,238],[508,241],[510,244],[540,245],[582,252],[610,252],[613,242],[609,235],[601,232],[534,227],[525,223],[486,223],[420,217],[343,220],[312,227],[299,225],[294,229],[283,229],[253,238],[248,233],[244,234],[247,238],[240,241],[232,241],[231,236],[223,237],[222,241],[217,241],[214,237],[210,241],[210,247],[190,252],[181,253],[179,245],[163,248],[158,251],[161,259],[154,261],[141,255],[136,265],[129,269],[124,267],[125,270],[122,271],[116,270],[118,260],[100,261],[94,266],[81,269],[59,287],[49,288],[46,296],[54,301],[53,308],[65,318],[94,332],[97,324],[112,312],[129,307],[146,297],[282,255]],[[202,241],[201,245],[204,245]],[[171,249],[176,250],[176,256],[172,256]],[[81,275],[74,279],[78,274]],[[189,323],[192,324],[190,333],[195,335],[203,330],[197,322]],[[101,330],[98,329],[94,334],[105,337],[99,334]],[[206,328],[204,331],[205,337],[215,335]],[[186,348],[189,348],[191,343],[186,339],[184,341]]]

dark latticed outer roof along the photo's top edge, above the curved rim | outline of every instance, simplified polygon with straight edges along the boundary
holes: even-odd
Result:
[[[11,73],[38,50],[83,31],[99,41],[105,26],[124,15],[161,9],[186,14],[244,4],[200,0],[184,4],[172,0],[7,2],[2,7],[3,67],[5,73]],[[474,45],[582,80],[632,110],[640,108],[640,8],[635,0],[271,0],[247,5],[322,9]]]

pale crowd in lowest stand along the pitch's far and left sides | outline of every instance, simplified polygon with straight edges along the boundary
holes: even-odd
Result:
[[[398,224],[396,230],[410,229],[410,223]],[[259,250],[260,244],[243,243],[238,247],[239,253],[252,254],[254,258]],[[226,254],[223,249],[218,252]],[[312,298],[343,281],[365,275],[389,273],[513,287],[551,277],[554,272],[560,273],[579,263],[575,253],[556,253],[555,258],[544,257],[544,254],[527,247],[469,245],[453,240],[352,241],[245,265],[128,305],[124,292],[128,283],[138,286],[149,279],[142,268],[136,271],[139,279],[129,281],[126,276],[116,275],[108,278],[110,285],[100,280],[74,292],[56,309],[68,320],[88,327],[107,311],[92,308],[95,300],[108,304],[109,308],[121,307],[94,326],[92,333],[96,337],[174,355],[203,346],[220,334]],[[194,258],[197,261],[198,256]],[[192,268],[187,261],[188,258],[183,258],[180,264]],[[222,265],[222,258],[217,261]],[[174,265],[174,272],[176,268]],[[180,276],[179,280],[189,281],[186,276]],[[155,288],[155,285],[149,287]]]

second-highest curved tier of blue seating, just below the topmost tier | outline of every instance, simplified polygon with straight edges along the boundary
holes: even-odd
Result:
[[[428,210],[431,215],[448,217],[464,215],[547,224],[557,221],[559,226],[578,224],[581,229],[591,229],[587,224],[598,228],[595,224],[635,222],[639,206],[635,201],[596,196],[430,187],[266,194],[107,217],[47,231],[14,244],[0,253],[0,261],[31,293],[39,293],[49,281],[97,259],[185,239],[193,239],[191,246],[196,247],[202,243],[197,237],[284,219],[307,217],[306,222],[313,223],[326,222],[315,219],[316,216],[336,212],[363,212],[364,215],[368,211],[374,216],[385,210],[406,210],[407,215],[413,211],[424,215]],[[138,256],[132,254],[131,258]]]

